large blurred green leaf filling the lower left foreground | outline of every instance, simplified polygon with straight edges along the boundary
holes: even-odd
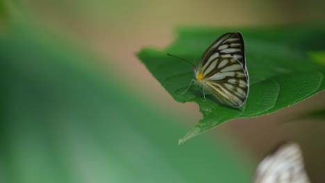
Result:
[[[250,182],[231,148],[177,146],[180,118],[72,47],[35,28],[1,33],[0,182]]]

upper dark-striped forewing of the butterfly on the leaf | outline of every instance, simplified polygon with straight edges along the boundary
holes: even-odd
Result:
[[[205,64],[219,56],[231,56],[237,59],[245,69],[245,73],[247,73],[244,39],[241,33],[226,33],[215,40],[203,53],[199,68],[204,67]]]

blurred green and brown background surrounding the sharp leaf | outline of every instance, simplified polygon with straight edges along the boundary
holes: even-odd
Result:
[[[324,182],[325,121],[297,119],[324,109],[324,93],[177,146],[201,119],[199,107],[176,103],[135,57],[144,46],[170,44],[177,26],[323,22],[324,7],[0,1],[0,182],[251,182],[258,162],[286,139],[301,145],[310,179]]]

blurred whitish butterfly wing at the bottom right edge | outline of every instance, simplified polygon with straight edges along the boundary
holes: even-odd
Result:
[[[254,183],[310,183],[299,145],[286,142],[263,159],[256,169]]]

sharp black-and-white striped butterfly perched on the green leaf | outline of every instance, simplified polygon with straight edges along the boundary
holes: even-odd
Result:
[[[204,89],[208,89],[220,103],[240,107],[249,93],[242,34],[226,33],[215,40],[203,53],[199,66],[194,67],[194,73],[196,80],[191,80],[188,89],[197,82],[203,87],[204,100]]]

